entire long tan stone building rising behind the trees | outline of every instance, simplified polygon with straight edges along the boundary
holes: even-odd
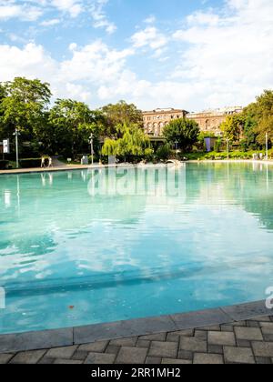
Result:
[[[143,112],[144,128],[148,136],[160,137],[163,134],[164,127],[172,120],[186,117],[196,121],[201,131],[221,136],[220,126],[226,120],[227,116],[241,113],[242,110],[243,108],[241,106],[206,110],[200,113],[188,113],[186,110],[173,108],[156,109]]]

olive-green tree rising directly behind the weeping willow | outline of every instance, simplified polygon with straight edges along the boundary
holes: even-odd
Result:
[[[137,125],[143,127],[141,110],[138,110],[133,104],[126,104],[125,101],[119,101],[116,105],[104,106],[100,111],[105,117],[105,136],[120,138],[122,132],[118,130],[118,126]]]

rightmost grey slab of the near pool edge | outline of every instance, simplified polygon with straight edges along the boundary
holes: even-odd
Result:
[[[221,309],[235,321],[246,320],[258,316],[273,315],[273,309],[268,309],[266,307],[265,300],[233,307],[222,307]]]

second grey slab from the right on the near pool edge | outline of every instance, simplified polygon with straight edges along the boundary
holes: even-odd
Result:
[[[178,330],[227,324],[229,321],[232,321],[221,309],[208,309],[182,315],[173,315],[171,317],[176,323]]]

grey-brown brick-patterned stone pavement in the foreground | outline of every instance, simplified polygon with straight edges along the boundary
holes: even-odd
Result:
[[[0,354],[0,364],[273,364],[273,316]]]

